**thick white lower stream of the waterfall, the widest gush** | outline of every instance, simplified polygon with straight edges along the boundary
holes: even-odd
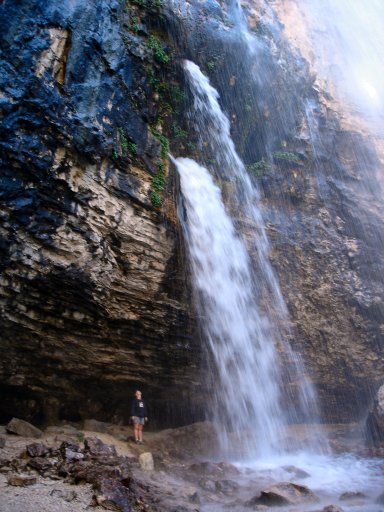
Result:
[[[246,436],[247,451],[269,451],[282,426],[278,370],[269,321],[253,298],[249,257],[208,171],[185,158],[176,165],[200,313],[218,373],[214,420],[228,425],[236,441]],[[227,430],[218,431],[228,448]]]

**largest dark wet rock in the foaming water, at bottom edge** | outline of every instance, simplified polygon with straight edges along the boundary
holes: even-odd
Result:
[[[262,491],[260,496],[255,496],[246,505],[250,507],[258,504],[283,506],[313,503],[316,501],[319,501],[319,498],[308,487],[282,482]]]

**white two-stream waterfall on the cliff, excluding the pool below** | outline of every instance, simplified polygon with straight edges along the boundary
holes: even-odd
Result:
[[[207,398],[207,406],[227,453],[234,445],[251,457],[281,452],[286,448],[283,427],[314,402],[312,390],[301,376],[301,407],[287,404],[289,393],[283,406],[281,388],[287,381],[278,351],[289,360],[296,380],[302,368],[279,329],[287,312],[268,260],[259,194],[236,153],[217,91],[194,63],[186,61],[184,67],[194,95],[191,118],[200,133],[202,154],[214,155],[212,173],[231,186],[231,205],[226,209],[205,167],[187,158],[175,160],[197,307],[213,361],[213,385],[207,390],[213,400]],[[239,222],[247,228],[237,232]],[[256,258],[250,257],[252,252]]]

